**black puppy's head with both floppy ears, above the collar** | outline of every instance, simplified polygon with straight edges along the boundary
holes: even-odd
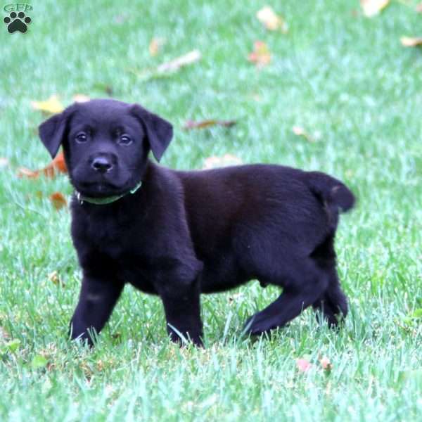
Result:
[[[139,183],[148,152],[160,160],[172,125],[137,104],[75,103],[39,126],[51,157],[63,146],[70,181],[87,196],[118,195]]]

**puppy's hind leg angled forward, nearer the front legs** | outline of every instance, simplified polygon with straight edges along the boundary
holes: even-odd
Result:
[[[283,283],[271,284],[284,286],[283,293],[271,305],[248,319],[245,324],[248,333],[260,335],[286,325],[320,298],[328,286],[328,277],[312,261],[296,265],[294,270],[290,268],[282,279],[285,280]]]

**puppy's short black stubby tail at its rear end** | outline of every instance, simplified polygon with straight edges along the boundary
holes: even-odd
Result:
[[[351,210],[354,205],[352,191],[340,180],[321,172],[307,172],[307,186],[328,211],[331,227],[335,230],[339,212]]]

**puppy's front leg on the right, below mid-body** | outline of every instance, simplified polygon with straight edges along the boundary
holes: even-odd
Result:
[[[199,281],[174,283],[160,291],[167,319],[167,332],[174,342],[182,343],[180,335],[193,344],[203,346],[203,325],[200,320]],[[174,329],[175,328],[175,329]]]

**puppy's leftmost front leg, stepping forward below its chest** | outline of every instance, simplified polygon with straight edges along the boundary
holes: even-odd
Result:
[[[72,339],[87,339],[89,345],[93,344],[89,331],[93,328],[97,333],[101,331],[123,286],[122,282],[115,279],[84,274],[79,302],[70,321]]]

